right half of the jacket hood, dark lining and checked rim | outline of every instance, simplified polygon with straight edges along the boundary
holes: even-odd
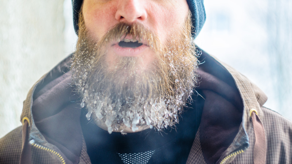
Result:
[[[205,98],[199,129],[200,144],[207,163],[216,163],[231,152],[245,150],[251,135],[251,109],[263,117],[265,94],[230,66],[203,50],[199,58],[199,86]]]

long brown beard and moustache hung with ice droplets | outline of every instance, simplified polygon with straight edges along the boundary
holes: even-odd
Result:
[[[115,57],[114,66],[106,60],[112,41],[136,38],[155,52],[146,67],[142,57]],[[135,40],[133,40],[135,42]],[[86,30],[82,13],[79,18],[77,50],[72,58],[72,80],[86,106],[88,120],[107,127],[109,133],[125,128],[163,128],[178,123],[196,84],[197,56],[191,35],[191,14],[181,32],[170,36],[167,45],[141,24],[119,23],[103,38],[93,41]]]

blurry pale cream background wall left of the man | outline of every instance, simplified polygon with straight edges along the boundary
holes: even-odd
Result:
[[[67,54],[62,0],[0,0],[0,137],[20,126],[22,102]]]

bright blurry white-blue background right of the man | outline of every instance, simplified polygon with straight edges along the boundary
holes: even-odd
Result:
[[[268,96],[265,107],[292,120],[292,1],[205,0],[206,23],[196,39]]]

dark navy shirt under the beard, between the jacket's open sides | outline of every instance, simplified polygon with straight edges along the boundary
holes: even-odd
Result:
[[[186,163],[195,135],[201,121],[204,99],[193,96],[197,103],[185,108],[179,124],[161,132],[146,129],[136,133],[122,135],[118,132],[109,134],[99,128],[94,121],[86,119],[86,110],[81,114],[81,127],[86,142],[87,152],[92,163],[120,163],[119,154],[142,154],[151,151],[147,163]],[[136,158],[135,163],[141,163]],[[142,162],[144,163],[144,162]]]

